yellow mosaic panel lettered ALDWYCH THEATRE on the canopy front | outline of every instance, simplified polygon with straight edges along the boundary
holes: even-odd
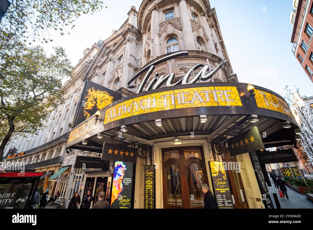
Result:
[[[202,106],[242,106],[242,103],[236,86],[174,89],[118,103],[105,110],[104,124],[134,115]]]

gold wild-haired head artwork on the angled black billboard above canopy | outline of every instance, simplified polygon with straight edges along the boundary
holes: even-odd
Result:
[[[84,117],[87,120],[90,115],[95,114],[97,110],[102,110],[105,106],[113,103],[113,97],[106,91],[94,89],[94,87],[87,89],[87,99],[84,106]]]

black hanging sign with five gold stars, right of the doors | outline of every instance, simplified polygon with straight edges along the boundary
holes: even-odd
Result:
[[[227,143],[230,156],[264,149],[258,127],[256,126],[230,138]]]

